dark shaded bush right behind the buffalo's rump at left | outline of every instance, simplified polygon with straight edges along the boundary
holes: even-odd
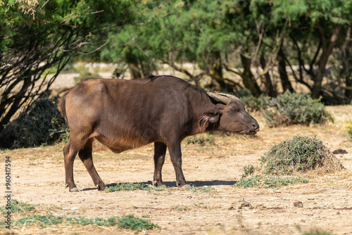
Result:
[[[16,147],[67,141],[69,132],[58,110],[58,96],[37,99],[14,121]]]

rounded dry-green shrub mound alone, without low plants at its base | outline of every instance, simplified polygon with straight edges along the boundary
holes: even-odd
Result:
[[[322,141],[315,137],[294,136],[272,146],[260,159],[264,174],[293,174],[316,167],[341,170],[342,165]]]

